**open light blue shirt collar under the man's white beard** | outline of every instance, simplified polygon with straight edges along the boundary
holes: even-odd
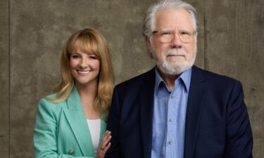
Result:
[[[161,75],[158,73],[158,68],[155,67],[155,74],[156,74],[156,79],[155,79],[155,92],[156,94],[158,93],[158,86],[160,86],[161,83],[165,84],[165,81],[163,81],[163,79],[161,78]],[[182,74],[180,75],[180,77],[178,78],[182,81],[185,90],[187,92],[189,92],[189,87],[191,84],[191,68],[189,68],[188,70],[186,70],[185,72],[182,72]],[[176,79],[177,80],[177,79]],[[176,82],[175,80],[175,82]]]

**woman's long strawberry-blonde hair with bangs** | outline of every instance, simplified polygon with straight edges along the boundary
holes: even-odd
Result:
[[[94,105],[107,117],[113,93],[113,66],[106,39],[95,29],[79,30],[68,39],[61,55],[61,79],[53,90],[56,97],[47,99],[59,103],[66,100],[73,90],[74,78],[70,72],[70,54],[75,48],[99,58],[98,91]]]

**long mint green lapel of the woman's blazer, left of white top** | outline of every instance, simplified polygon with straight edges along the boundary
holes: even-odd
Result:
[[[65,117],[73,130],[80,150],[84,156],[94,157],[91,134],[75,86],[73,86],[73,91],[70,93],[67,103],[68,110],[64,110]]]

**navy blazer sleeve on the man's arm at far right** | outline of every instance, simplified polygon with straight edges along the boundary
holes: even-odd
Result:
[[[227,104],[226,158],[251,158],[253,138],[240,82],[236,82]]]

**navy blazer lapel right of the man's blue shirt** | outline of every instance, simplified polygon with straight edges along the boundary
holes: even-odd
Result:
[[[205,79],[201,70],[193,67],[191,70],[191,85],[187,103],[184,158],[191,158],[194,154],[196,138],[199,131],[201,110],[206,100]]]

